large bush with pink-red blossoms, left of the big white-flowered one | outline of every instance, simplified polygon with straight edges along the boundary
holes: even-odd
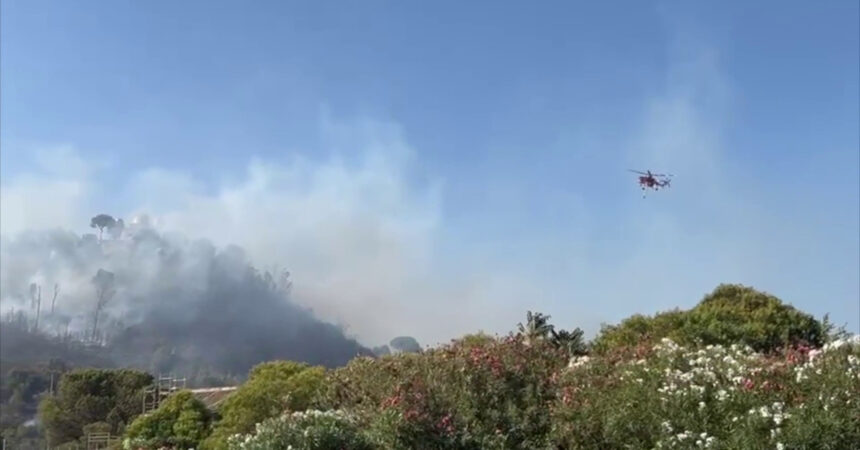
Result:
[[[332,374],[325,400],[356,414],[377,448],[544,448],[552,380],[566,363],[548,341],[471,336],[422,354],[355,359]]]

